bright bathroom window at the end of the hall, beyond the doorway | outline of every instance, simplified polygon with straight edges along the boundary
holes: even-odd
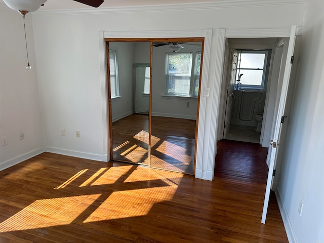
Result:
[[[270,56],[269,50],[238,50],[236,87],[266,88]]]

